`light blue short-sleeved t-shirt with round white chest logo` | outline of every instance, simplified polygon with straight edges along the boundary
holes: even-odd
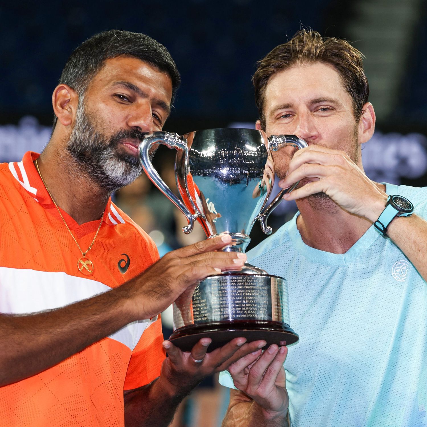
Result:
[[[427,187],[387,184],[386,193],[427,217]],[[332,254],[303,242],[298,214],[248,253],[287,281],[299,335],[284,363],[292,426],[427,426],[426,282],[374,226]],[[233,386],[228,372],[219,381]]]

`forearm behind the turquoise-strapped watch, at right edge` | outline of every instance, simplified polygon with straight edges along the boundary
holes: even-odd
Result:
[[[406,257],[427,281],[427,222],[419,216],[397,217],[390,222],[387,235],[402,250]]]

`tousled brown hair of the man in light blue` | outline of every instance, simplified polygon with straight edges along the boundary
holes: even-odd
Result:
[[[335,37],[323,38],[317,31],[303,29],[257,62],[252,83],[263,129],[266,125],[263,111],[265,91],[270,77],[293,65],[310,62],[323,62],[335,68],[353,99],[354,117],[357,121],[360,119],[363,105],[368,102],[369,97],[368,79],[363,71],[363,55],[348,41]]]

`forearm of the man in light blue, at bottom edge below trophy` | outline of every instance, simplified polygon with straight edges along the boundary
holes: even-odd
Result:
[[[272,414],[255,401],[240,402],[230,406],[222,427],[290,427],[289,412],[286,415]]]

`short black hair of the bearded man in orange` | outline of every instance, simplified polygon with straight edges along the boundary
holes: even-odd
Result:
[[[145,34],[118,29],[100,32],[77,47],[62,70],[59,84],[64,83],[82,96],[105,61],[117,56],[130,56],[145,61],[172,80],[173,103],[181,83],[175,61],[163,44]],[[56,116],[54,125],[56,123]]]

